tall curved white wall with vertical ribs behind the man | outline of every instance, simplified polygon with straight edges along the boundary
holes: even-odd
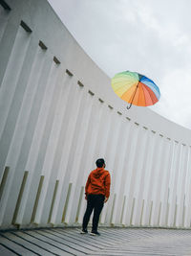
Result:
[[[84,185],[98,157],[112,175],[100,223],[189,228],[191,131],[148,108],[127,111],[45,0],[6,3],[1,228],[81,223]]]

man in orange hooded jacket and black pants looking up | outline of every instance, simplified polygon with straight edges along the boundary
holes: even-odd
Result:
[[[105,161],[100,158],[96,160],[96,170],[92,171],[86,182],[85,195],[87,199],[87,208],[84,214],[81,234],[88,233],[87,226],[90,221],[91,214],[94,210],[93,227],[90,233],[93,236],[100,235],[97,232],[98,220],[104,202],[110,196],[110,173],[106,171]]]

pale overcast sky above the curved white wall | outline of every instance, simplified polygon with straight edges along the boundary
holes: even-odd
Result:
[[[190,0],[49,0],[74,38],[110,77],[130,70],[155,81],[150,107],[191,128]]]

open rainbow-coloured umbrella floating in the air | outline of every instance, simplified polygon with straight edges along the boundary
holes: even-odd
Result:
[[[137,72],[124,71],[112,79],[112,87],[117,96],[131,105],[154,105],[159,101],[159,87],[154,81]]]

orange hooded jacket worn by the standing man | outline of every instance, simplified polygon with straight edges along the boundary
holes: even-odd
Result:
[[[110,196],[110,173],[104,168],[96,168],[88,176],[86,182],[85,194],[104,195],[106,198]]]

